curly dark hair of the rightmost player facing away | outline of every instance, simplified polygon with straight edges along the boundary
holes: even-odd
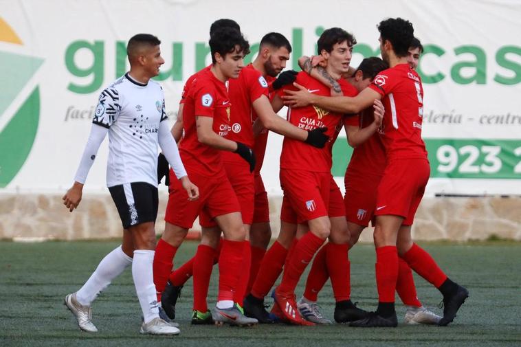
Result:
[[[414,38],[414,27],[410,21],[401,18],[389,18],[378,24],[381,41],[389,41],[396,56],[407,56],[412,38]]]

